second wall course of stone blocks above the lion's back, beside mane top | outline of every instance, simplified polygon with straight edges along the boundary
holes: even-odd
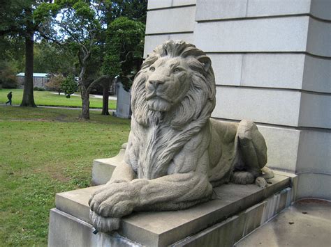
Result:
[[[331,93],[331,61],[304,54],[208,54],[216,85]]]

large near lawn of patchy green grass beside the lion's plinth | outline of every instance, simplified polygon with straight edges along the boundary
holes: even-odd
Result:
[[[127,141],[129,120],[78,114],[0,106],[0,246],[47,246],[55,193],[89,186],[93,159]]]

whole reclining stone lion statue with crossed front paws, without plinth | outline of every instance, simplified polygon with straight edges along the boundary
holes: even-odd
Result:
[[[96,230],[118,229],[133,211],[205,202],[225,182],[266,185],[263,136],[248,120],[211,119],[215,91],[211,61],[194,45],[169,40],[146,58],[131,89],[124,161],[89,200]]]

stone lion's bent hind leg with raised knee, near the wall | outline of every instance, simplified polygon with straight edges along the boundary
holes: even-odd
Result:
[[[237,138],[242,162],[233,173],[231,181],[237,184],[251,184],[255,181],[258,186],[265,187],[267,182],[261,171],[267,163],[265,139],[258,132],[258,127],[249,120],[242,120],[238,125]]]

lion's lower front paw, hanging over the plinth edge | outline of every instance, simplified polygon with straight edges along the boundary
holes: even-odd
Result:
[[[119,223],[121,221],[120,218],[105,218],[99,216],[91,210],[89,211],[89,218],[94,228],[100,232],[112,232],[113,230],[119,229]]]

